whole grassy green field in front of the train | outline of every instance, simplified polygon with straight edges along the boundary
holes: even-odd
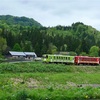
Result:
[[[70,99],[100,99],[100,66],[0,64],[0,100]]]

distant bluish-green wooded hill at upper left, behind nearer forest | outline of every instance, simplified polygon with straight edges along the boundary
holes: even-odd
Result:
[[[35,21],[32,18],[27,17],[17,17],[17,16],[11,16],[11,15],[1,15],[0,20],[4,23],[7,23],[8,25],[21,25],[21,26],[36,26],[41,27],[42,25]]]

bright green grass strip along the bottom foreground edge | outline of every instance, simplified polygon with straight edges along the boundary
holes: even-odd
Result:
[[[100,99],[100,89],[70,88],[69,90],[19,89],[5,94],[0,91],[0,100],[95,100]]]

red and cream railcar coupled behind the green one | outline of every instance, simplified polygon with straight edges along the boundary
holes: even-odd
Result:
[[[74,63],[77,65],[79,64],[98,65],[99,57],[75,56]]]

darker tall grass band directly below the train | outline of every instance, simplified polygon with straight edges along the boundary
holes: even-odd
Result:
[[[32,63],[2,63],[0,73],[20,73],[20,72],[100,72],[100,66],[75,66],[64,64],[43,64],[41,62]]]

